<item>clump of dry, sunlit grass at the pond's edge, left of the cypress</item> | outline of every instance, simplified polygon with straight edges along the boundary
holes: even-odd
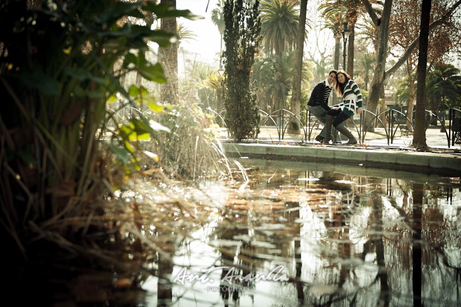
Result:
[[[212,117],[197,104],[167,106],[158,121],[171,130],[157,134],[151,144],[166,173],[187,180],[228,178],[232,173]]]

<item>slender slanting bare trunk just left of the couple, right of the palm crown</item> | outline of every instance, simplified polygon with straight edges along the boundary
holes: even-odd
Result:
[[[307,0],[301,0],[298,37],[296,42],[295,78],[293,80],[293,88],[291,90],[290,104],[290,111],[294,114],[298,114],[301,108],[301,78],[303,70],[304,33],[306,32],[306,12]],[[288,132],[300,133],[300,125],[297,120],[291,120]]]

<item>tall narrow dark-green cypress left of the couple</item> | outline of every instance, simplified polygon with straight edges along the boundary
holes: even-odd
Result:
[[[256,94],[250,89],[250,74],[261,42],[259,1],[252,6],[242,0],[225,1],[224,21],[225,120],[231,136],[240,141],[259,133]]]

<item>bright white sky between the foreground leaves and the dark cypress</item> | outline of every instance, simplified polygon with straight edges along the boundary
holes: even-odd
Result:
[[[211,20],[211,11],[216,8],[217,0],[209,0],[208,10],[205,12],[206,4],[208,0],[177,0],[176,8],[180,10],[188,9],[196,15],[205,17],[198,21],[190,21],[189,19],[179,18],[178,24],[194,32],[197,37],[196,40],[190,39],[186,42],[181,43],[180,47],[183,47],[186,51],[197,53],[197,60],[212,64],[216,62],[215,66],[219,63],[219,52],[220,48],[220,35],[218,28],[213,24]]]

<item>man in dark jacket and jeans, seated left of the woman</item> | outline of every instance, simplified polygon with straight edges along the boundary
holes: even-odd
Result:
[[[309,101],[307,103],[307,110],[317,117],[317,119],[324,125],[322,131],[316,136],[316,141],[323,142],[325,139],[325,118],[326,112],[330,110],[329,102],[332,100],[331,89],[336,81],[336,70],[331,70],[325,80],[320,81],[312,90]]]

